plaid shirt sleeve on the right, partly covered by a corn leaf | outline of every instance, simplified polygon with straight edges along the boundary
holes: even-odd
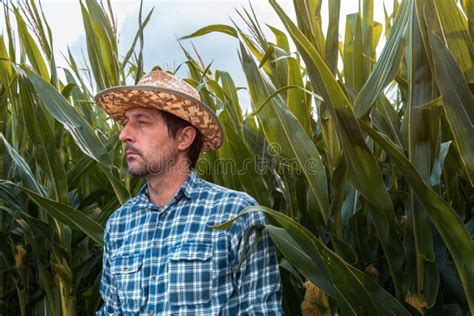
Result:
[[[251,205],[256,205],[256,202]],[[256,230],[252,232],[251,227],[266,223],[262,212],[250,212],[240,217],[231,228],[235,233],[232,248],[236,253],[234,280],[238,293],[239,315],[283,315],[278,258],[265,230],[238,268],[242,255],[252,247],[257,237]],[[251,235],[245,245],[249,232]]]

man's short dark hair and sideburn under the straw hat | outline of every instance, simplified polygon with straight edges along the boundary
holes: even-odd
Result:
[[[201,153],[202,148],[201,132],[199,132],[199,130],[194,127],[194,125],[174,114],[171,114],[166,111],[160,111],[160,115],[163,118],[166,126],[168,127],[168,134],[173,138],[176,137],[176,134],[178,134],[178,131],[180,129],[185,128],[187,126],[192,126],[196,130],[196,137],[194,137],[194,141],[191,146],[188,147],[187,151],[189,167],[194,168],[196,166],[196,162],[199,158],[199,154]]]

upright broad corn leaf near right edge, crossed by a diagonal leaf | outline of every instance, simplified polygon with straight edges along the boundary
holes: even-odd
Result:
[[[424,110],[419,106],[431,100],[433,81],[415,8],[413,7],[412,10],[413,16],[410,19],[407,32],[408,45],[405,57],[409,84],[406,113],[408,119],[407,149],[410,162],[416,167],[423,179],[428,181],[432,161],[430,127],[433,123],[430,120],[431,110]],[[416,288],[418,299],[423,301],[428,308],[431,308],[438,295],[439,273],[434,264],[433,234],[429,217],[413,188],[410,190],[410,200],[406,213],[410,221],[408,227],[413,233],[413,245],[408,249],[415,250],[411,255],[408,255],[412,260],[407,263],[407,271],[409,275],[414,276],[411,280]],[[411,241],[412,238],[406,238],[405,243]],[[430,273],[431,271],[433,273]]]

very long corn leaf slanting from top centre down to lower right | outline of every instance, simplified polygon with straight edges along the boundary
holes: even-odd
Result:
[[[404,292],[404,274],[402,271],[403,249],[398,237],[393,205],[382,179],[375,157],[370,152],[362,136],[350,103],[339,84],[332,76],[318,51],[299,31],[294,23],[275,2],[271,5],[280,16],[290,36],[305,61],[308,75],[328,105],[335,119],[339,140],[344,150],[348,166],[348,179],[375,209],[371,212],[387,256],[397,296]]]

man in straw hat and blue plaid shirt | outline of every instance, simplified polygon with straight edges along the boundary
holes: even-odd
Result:
[[[197,91],[153,71],[137,86],[102,91],[96,102],[123,124],[128,171],[146,180],[107,222],[98,314],[282,314],[278,260],[267,234],[239,266],[247,232],[264,216],[251,212],[228,230],[210,228],[256,201],[193,169],[201,150],[223,140]]]

